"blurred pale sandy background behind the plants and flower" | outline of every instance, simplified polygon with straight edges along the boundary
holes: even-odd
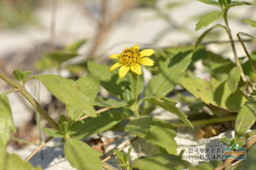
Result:
[[[0,0],[0,69],[12,78],[14,68],[31,70],[32,74],[84,76],[86,61],[110,65],[108,56],[120,53],[126,46],[138,44],[142,48],[161,50],[194,45],[206,29],[223,23],[220,18],[208,28],[195,31],[197,21],[214,10],[219,9],[196,0]],[[255,27],[242,22],[244,18],[256,20],[255,5],[232,8],[228,18],[235,40],[239,31],[255,35]],[[222,43],[217,45],[216,41]],[[81,43],[80,48],[75,54],[65,53],[67,59],[63,61],[44,57],[50,51],[63,51],[77,42]],[[223,30],[215,29],[203,42],[208,42],[206,49],[233,61],[228,36]],[[246,45],[249,52],[256,49],[255,42]],[[242,46],[236,43],[236,47],[238,55],[244,57]],[[202,61],[195,65],[196,74],[207,78]],[[146,69],[144,72],[144,79],[149,80],[150,72]],[[0,87],[0,92],[8,88],[2,80]],[[54,119],[65,112],[64,104],[36,80],[26,84],[26,88]],[[104,89],[100,93],[108,95]],[[40,143],[42,137],[36,121],[41,127],[46,122],[34,116],[34,109],[21,96],[10,94],[9,99],[18,129],[15,137]],[[15,147],[10,150],[17,151],[25,145],[17,140],[13,143]],[[22,150],[22,157],[32,149]]]

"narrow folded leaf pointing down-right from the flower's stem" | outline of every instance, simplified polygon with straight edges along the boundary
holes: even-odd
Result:
[[[187,119],[187,115],[184,114],[178,107],[176,107],[176,102],[172,102],[170,99],[161,97],[161,98],[152,98],[149,99],[154,104],[157,104],[158,106],[164,108],[167,111],[170,111],[171,113],[177,115],[180,120],[182,120],[184,123],[189,125],[191,128],[194,128],[193,125],[190,123],[190,121]]]

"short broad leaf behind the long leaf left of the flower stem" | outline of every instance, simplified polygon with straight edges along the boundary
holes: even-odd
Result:
[[[89,73],[86,77],[81,77],[76,80],[76,84],[78,84],[80,90],[82,90],[89,98],[90,102],[96,98],[100,90],[100,79],[92,73]]]

